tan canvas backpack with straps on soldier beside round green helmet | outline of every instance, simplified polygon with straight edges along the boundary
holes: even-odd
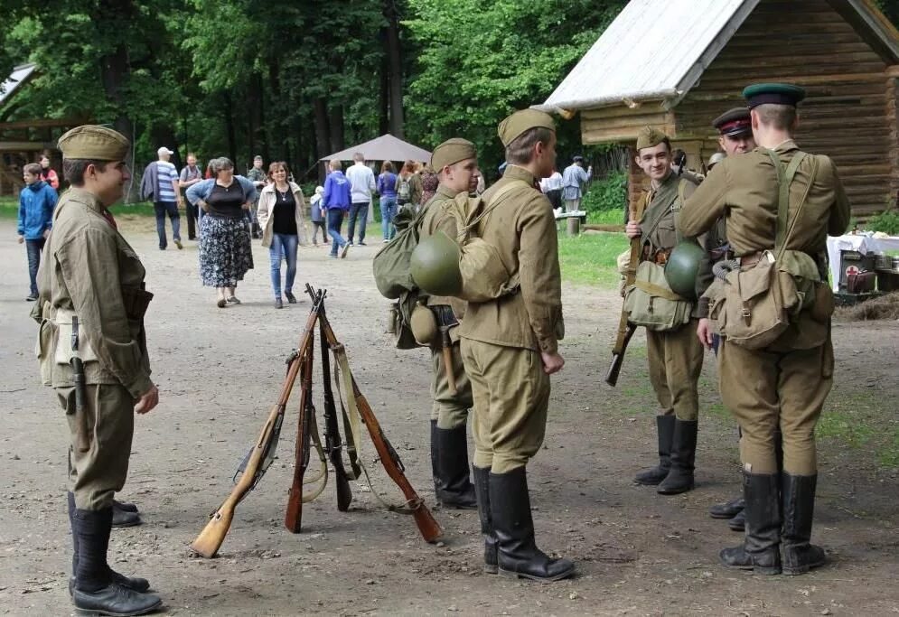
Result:
[[[509,196],[513,189],[529,186],[523,180],[511,181],[492,195],[488,204],[479,195],[469,197],[461,192],[454,199],[451,213],[459,229],[459,272],[462,275],[462,291],[457,297],[468,302],[490,302],[503,295],[515,294],[520,287],[518,274],[510,275],[503,265],[499,251],[478,236],[475,230],[491,211]]]

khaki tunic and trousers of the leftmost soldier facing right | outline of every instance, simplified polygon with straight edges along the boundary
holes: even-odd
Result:
[[[42,378],[70,415],[70,491],[78,509],[111,507],[125,484],[134,432],[133,407],[153,387],[144,313],[152,294],[133,248],[105,216],[93,194],[72,188],[54,213],[38,275]],[[70,315],[79,320],[84,362],[88,452],[76,445],[80,418],[69,365]]]

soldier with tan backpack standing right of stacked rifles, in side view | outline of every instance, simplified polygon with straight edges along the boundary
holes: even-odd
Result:
[[[565,364],[558,353],[564,326],[556,221],[537,183],[553,172],[556,129],[552,117],[525,109],[501,122],[499,136],[508,165],[483,193],[491,210],[476,231],[520,288],[469,303],[460,328],[474,397],[474,477],[487,538],[485,569],[492,571],[493,554],[502,574],[556,581],[572,575],[575,566],[537,547],[525,470],[546,433],[549,376]]]

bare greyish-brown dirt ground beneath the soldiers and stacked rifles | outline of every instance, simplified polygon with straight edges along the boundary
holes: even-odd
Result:
[[[553,380],[546,447],[529,466],[538,543],[575,559],[575,579],[541,585],[482,575],[475,512],[435,509],[445,540],[430,546],[411,519],[382,509],[358,482],[350,512],[336,511],[329,485],[304,509],[303,533],[289,534],[282,519],[295,409],[281,458],[240,504],[220,557],[193,556],[188,544],[227,495],[258,435],[309,303],[272,309],[267,251],[257,245],[257,269],[239,286],[244,304],[217,309],[214,294],[198,281],[195,244],[162,252],[146,223],[138,227],[126,235],[145,259],[155,293],[147,332],[162,402],[137,419],[122,494],[139,504],[145,524],[116,530],[110,555],[120,560],[118,569],[148,576],[169,614],[899,613],[899,484],[895,470],[878,471],[865,448],[833,441],[821,447],[815,538],[828,548],[831,566],[800,577],[761,577],[716,565],[718,550],[740,537],[706,509],[735,496],[740,485],[735,427],[720,409],[711,356],[698,489],[663,498],[632,485],[633,472],[651,463],[654,442],[644,341],[632,341],[619,387],[605,387],[620,301],[584,287],[565,289],[567,365]],[[35,327],[23,302],[24,250],[11,222],[0,221],[0,238],[0,612],[67,614],[67,433],[52,391],[37,381]],[[409,479],[432,504],[430,364],[425,351],[394,350],[382,333],[388,303],[370,280],[377,248],[351,249],[346,260],[301,248],[297,286],[308,281],[328,289],[328,314],[356,379]],[[834,331],[833,405],[850,414],[864,401],[884,431],[896,429],[897,333],[896,323],[838,324]],[[365,448],[371,461],[373,448]],[[376,488],[398,499],[383,472],[374,477]]]

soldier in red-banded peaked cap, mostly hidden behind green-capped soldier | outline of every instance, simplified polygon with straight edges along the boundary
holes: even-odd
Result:
[[[753,126],[749,119],[749,108],[733,108],[716,117],[712,122],[720,136],[718,145],[724,150],[726,156],[746,154],[755,149]],[[724,160],[724,159],[722,159]],[[711,165],[709,166],[711,170]],[[708,286],[711,285],[713,275],[712,268],[716,262],[727,257],[730,246],[727,244],[727,234],[724,217],[718,219],[715,226],[706,234],[706,242],[703,248],[709,255],[704,262],[702,270],[697,276],[697,296],[699,325],[697,336],[706,349],[718,350],[718,337],[713,334],[708,321],[708,298],[704,296]],[[708,509],[713,519],[730,519],[727,525],[735,531],[743,531],[745,525],[744,500],[738,497],[726,503],[716,504]]]

